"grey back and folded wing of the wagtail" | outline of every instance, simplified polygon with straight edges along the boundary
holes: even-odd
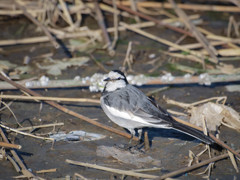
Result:
[[[121,111],[131,111],[132,114],[146,120],[153,125],[171,126],[173,119],[167,112],[148,98],[142,91],[132,85],[106,94],[104,102]]]

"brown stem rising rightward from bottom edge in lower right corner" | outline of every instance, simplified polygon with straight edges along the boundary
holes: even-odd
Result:
[[[236,151],[237,153],[240,152],[240,150],[237,150]],[[185,168],[182,168],[182,169],[179,169],[179,170],[176,170],[176,171],[173,171],[173,172],[170,172],[170,173],[167,173],[167,174],[164,174],[162,175],[160,178],[157,178],[158,180],[160,179],[166,179],[166,178],[170,178],[170,177],[175,177],[175,176],[178,176],[178,175],[181,175],[183,173],[186,173],[186,172],[189,172],[189,171],[192,171],[194,169],[197,169],[197,168],[200,168],[202,166],[205,166],[211,162],[216,162],[216,161],[219,161],[219,160],[222,160],[222,159],[225,159],[225,158],[228,158],[228,153],[225,153],[225,154],[222,154],[220,156],[216,156],[216,157],[213,157],[211,159],[208,159],[208,160],[205,160],[205,161],[202,161],[198,164],[194,164],[192,166],[189,166],[189,167],[185,167]]]

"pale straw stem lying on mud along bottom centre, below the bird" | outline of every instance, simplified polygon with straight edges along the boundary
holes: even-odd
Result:
[[[99,170],[108,171],[108,172],[117,173],[117,174],[123,174],[123,175],[127,175],[127,176],[142,177],[142,178],[149,178],[149,179],[154,179],[154,178],[158,177],[158,176],[154,176],[154,175],[137,173],[137,172],[133,172],[133,171],[126,171],[126,170],[121,170],[121,169],[114,169],[114,168],[99,166],[99,165],[96,165],[96,164],[73,161],[73,160],[70,160],[70,159],[66,159],[65,162],[67,162],[69,164],[74,164],[74,165],[99,169]]]

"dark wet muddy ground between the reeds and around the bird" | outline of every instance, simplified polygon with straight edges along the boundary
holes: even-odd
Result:
[[[219,14],[216,15],[216,17]],[[93,20],[92,20],[93,21]],[[224,33],[224,28],[227,25],[227,21],[219,19],[211,19],[211,23],[208,24],[208,27],[214,27],[216,34]],[[25,18],[11,18],[7,20],[2,20],[0,36],[7,38],[16,38],[13,35],[13,32],[17,32],[20,26],[25,27],[24,33],[21,34],[21,37],[28,36],[28,32],[34,30],[35,26],[31,24]],[[172,32],[170,30],[153,27],[148,28],[149,32],[155,33],[160,37],[167,37],[168,40],[177,40],[180,35]],[[36,35],[36,34],[35,34]],[[151,74],[148,72],[149,69],[153,68],[156,64],[148,64],[150,61],[149,54],[156,54],[160,56],[160,60],[157,63],[161,63],[161,66],[152,73],[152,75],[160,75],[163,71],[172,71],[174,75],[182,75],[182,72],[173,71],[169,68],[168,61],[169,57],[162,54],[159,49],[167,49],[166,46],[163,46],[157,42],[149,40],[147,38],[141,37],[132,32],[123,32],[120,34],[120,40],[116,49],[116,56],[110,57],[103,50],[96,50],[93,54],[97,59],[103,63],[103,65],[108,69],[117,69],[122,64],[124,59],[125,52],[127,49],[128,41],[133,41],[133,51],[135,53],[135,62],[133,69],[135,73]],[[192,39],[188,40],[189,42]],[[0,54],[0,59],[9,60],[10,62],[22,64],[24,56],[29,55],[33,61],[38,61],[39,59],[35,58],[41,54],[53,53],[53,58],[64,58],[68,55],[64,52],[63,49],[54,50],[51,44],[41,43],[34,45],[17,45],[11,47],[1,47],[4,50],[4,54]],[[73,56],[85,55],[84,53],[72,53]],[[178,59],[174,59],[176,62],[181,62]],[[31,65],[30,63],[30,65]],[[186,62],[191,64],[190,62]],[[235,63],[236,67],[240,64]],[[87,66],[83,67],[71,67],[63,71],[61,76],[58,76],[58,79],[70,79],[74,78],[76,75],[88,76],[96,72],[104,73],[93,61],[89,61]],[[31,76],[40,76],[44,72],[40,70],[34,71],[32,74],[27,74],[27,77]],[[50,78],[54,78],[51,77]],[[236,83],[238,84],[238,83]],[[227,92],[225,89],[226,84],[213,84],[211,86],[200,86],[197,84],[192,85],[177,85],[171,86],[165,91],[160,91],[154,94],[157,102],[163,107],[168,109],[175,109],[181,111],[182,109],[176,109],[167,105],[162,97],[171,97],[171,99],[182,101],[182,102],[195,102],[205,98],[215,97],[215,96],[227,96],[227,104],[233,107],[236,111],[240,112],[240,95],[239,92]],[[156,88],[162,86],[144,86],[139,87],[145,93],[152,91]],[[58,96],[58,97],[76,97],[76,98],[96,98],[99,99],[101,93],[91,93],[88,88],[66,88],[66,89],[48,89],[48,90],[35,90],[36,92],[44,96]],[[4,94],[20,94],[18,90],[14,91],[3,91]],[[90,118],[97,118],[99,122],[113,126],[120,130],[122,128],[111,123],[107,116],[103,113],[101,107],[96,104],[80,104],[80,103],[63,103],[63,105],[73,111],[81,113]],[[96,150],[99,146],[114,146],[127,144],[129,139],[121,137],[119,135],[113,134],[106,130],[102,130],[98,127],[95,127],[89,123],[86,123],[80,119],[67,115],[48,104],[43,103],[42,109],[40,110],[40,103],[37,102],[24,102],[24,101],[15,101],[11,106],[11,110],[15,113],[18,121],[22,126],[31,126],[31,125],[40,125],[48,123],[63,122],[63,127],[57,127],[55,131],[66,131],[70,132],[72,130],[83,130],[86,132],[94,132],[106,135],[106,138],[89,141],[89,142],[67,142],[59,141],[55,142],[53,148],[52,143],[46,142],[43,140],[37,140],[34,138],[15,135],[14,133],[7,133],[8,137],[12,142],[22,145],[22,149],[18,150],[18,154],[26,164],[26,166],[35,172],[42,169],[52,169],[57,168],[57,171],[54,173],[45,173],[38,174],[39,177],[45,179],[56,179],[64,178],[67,175],[73,176],[74,173],[79,173],[89,179],[121,179],[121,175],[104,172],[100,170],[95,170],[91,168],[85,168],[81,166],[69,165],[65,162],[66,159],[88,162],[92,164],[98,164],[107,167],[113,167],[124,170],[138,169],[134,165],[124,164],[117,161],[113,158],[104,158],[99,157],[96,154]],[[1,111],[1,122],[10,126],[17,127],[16,121],[11,115],[11,113],[5,109]],[[37,134],[46,134],[53,131],[52,128],[45,128],[36,130]],[[171,172],[183,167],[186,167],[188,164],[188,153],[189,150],[193,151],[195,154],[202,151],[205,146],[200,144],[199,141],[176,131],[161,130],[161,129],[149,129],[149,137],[151,140],[151,149],[148,152],[144,152],[143,155],[151,156],[155,160],[161,161],[160,164],[148,163],[144,164],[141,168],[151,168],[151,167],[161,167],[160,171],[151,172],[149,174],[154,175],[163,175],[164,173]],[[240,133],[229,129],[227,127],[220,128],[220,139],[226,142],[229,146],[234,149],[240,148]],[[224,151],[223,151],[224,152]],[[218,155],[223,152],[216,151],[215,154]],[[201,160],[207,159],[207,154],[201,157]],[[196,175],[199,172],[204,171],[206,167],[199,170],[193,171],[191,173],[181,174],[176,177],[179,179],[202,179],[202,176]],[[0,179],[12,179],[14,176],[20,175],[15,171],[12,164],[9,161],[2,160],[0,161]],[[211,179],[238,179],[240,178],[239,173],[236,173],[229,159],[221,160],[216,162],[214,169],[211,172]],[[137,179],[133,177],[126,177],[126,179]]]

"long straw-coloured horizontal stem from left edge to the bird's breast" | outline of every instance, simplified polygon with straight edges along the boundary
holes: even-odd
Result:
[[[1,99],[14,99],[14,100],[44,100],[44,101],[65,101],[65,102],[88,102],[99,104],[98,99],[87,98],[62,98],[62,97],[42,97],[42,96],[18,96],[18,95],[0,95]]]

